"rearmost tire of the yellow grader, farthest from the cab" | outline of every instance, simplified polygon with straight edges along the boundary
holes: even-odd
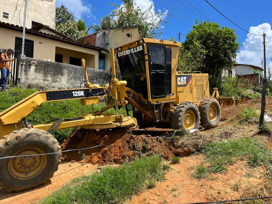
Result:
[[[215,128],[220,122],[221,110],[214,97],[204,98],[199,104],[200,124],[203,128]]]

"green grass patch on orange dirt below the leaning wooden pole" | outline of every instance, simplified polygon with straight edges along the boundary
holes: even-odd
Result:
[[[209,143],[202,147],[202,152],[209,167],[207,169],[203,166],[197,167],[196,174],[199,175],[203,172],[224,173],[227,171],[226,166],[234,164],[237,159],[244,160],[245,165],[253,167],[265,165],[270,169],[272,164],[272,151],[255,138]]]

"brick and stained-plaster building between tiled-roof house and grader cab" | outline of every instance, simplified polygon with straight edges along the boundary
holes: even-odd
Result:
[[[110,71],[110,48],[116,48],[140,39],[141,34],[138,32],[138,28],[139,26],[103,29],[77,40],[106,49],[108,54],[99,55],[99,69]],[[118,66],[117,69],[119,70]]]

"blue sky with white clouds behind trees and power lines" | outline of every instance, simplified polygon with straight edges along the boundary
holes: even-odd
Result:
[[[168,39],[173,36],[175,40],[178,40],[178,33],[181,35],[181,42],[185,40],[185,35],[190,32],[190,26],[192,26],[193,19],[207,20],[206,17],[210,18],[212,21],[219,23],[221,26],[227,26],[235,29],[235,33],[238,36],[238,41],[241,44],[240,53],[237,55],[236,61],[238,63],[254,64],[256,66],[261,66],[262,60],[262,38],[259,36],[254,36],[241,30],[226,18],[221,16],[217,11],[214,10],[208,3],[204,0],[186,0],[189,4],[203,13],[205,16],[200,14],[190,5],[186,4],[184,0],[162,0],[169,4],[171,7],[175,8],[177,11],[170,8],[168,5],[164,4],[161,0],[134,0],[136,4],[139,5],[141,9],[146,9],[150,4],[154,4],[154,11],[158,8],[162,11],[168,11],[168,13],[173,14],[175,18],[168,17],[166,21],[167,24],[162,25],[162,39]],[[263,32],[267,33],[267,41],[272,40],[272,18],[271,18],[271,8],[272,1],[265,0],[264,2],[259,2],[255,0],[208,0],[212,5],[214,5],[218,10],[220,10],[225,16],[230,18],[236,24],[238,24],[243,29],[250,31],[256,35],[262,35]],[[121,0],[57,0],[57,6],[64,5],[68,10],[73,13],[76,19],[83,18],[87,25],[92,25],[93,23],[98,24],[99,18],[106,16],[110,13],[113,6],[109,3],[115,3],[120,5]],[[189,7],[199,16],[200,18],[184,5]],[[173,6],[174,5],[174,6]],[[185,13],[184,13],[185,12]],[[185,17],[186,16],[186,17]],[[192,18],[193,19],[192,19]],[[189,19],[188,19],[189,18]],[[190,20],[191,19],[191,20]],[[180,21],[184,22],[181,23]],[[189,26],[187,26],[188,24]],[[271,38],[269,38],[271,37]],[[253,44],[253,45],[252,45]],[[272,41],[267,43],[268,48],[268,63],[267,65],[272,67]]]

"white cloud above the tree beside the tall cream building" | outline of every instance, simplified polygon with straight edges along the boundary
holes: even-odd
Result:
[[[64,5],[74,15],[76,20],[83,18],[83,16],[93,18],[91,5],[85,5],[82,0],[57,0],[56,6],[60,7],[61,5]]]

